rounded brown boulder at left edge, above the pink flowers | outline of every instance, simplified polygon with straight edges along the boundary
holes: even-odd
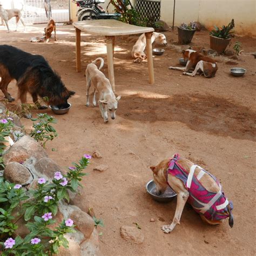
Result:
[[[32,174],[25,166],[17,162],[11,162],[5,166],[4,178],[11,183],[27,185],[33,180]]]

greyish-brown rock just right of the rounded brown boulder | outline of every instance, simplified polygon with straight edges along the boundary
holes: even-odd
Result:
[[[37,160],[34,167],[37,172],[43,173],[50,179],[53,178],[55,172],[62,172],[62,169],[55,163],[55,161],[48,157],[43,157]]]

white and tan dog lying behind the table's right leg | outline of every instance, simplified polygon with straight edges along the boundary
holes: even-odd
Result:
[[[162,33],[153,32],[151,37],[151,44],[154,41],[157,41],[163,45],[167,45],[166,37]],[[145,33],[140,35],[137,42],[133,45],[132,48],[132,57],[135,59],[135,63],[142,62],[143,59],[146,59],[146,54],[144,53],[144,50],[146,48],[146,36]]]

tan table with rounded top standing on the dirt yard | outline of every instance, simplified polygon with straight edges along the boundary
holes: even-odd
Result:
[[[147,65],[149,68],[149,83],[154,84],[154,69],[153,69],[153,56],[152,56],[152,44],[151,44],[151,36],[152,36],[152,32],[154,31],[153,28],[147,28],[144,26],[134,26],[134,25],[126,24],[124,22],[116,21],[115,19],[97,19],[93,21],[80,21],[80,22],[74,22],[73,26],[75,26],[76,28],[77,72],[81,71],[81,46],[80,46],[81,31],[87,32],[93,35],[105,36],[106,49],[107,49],[107,67],[109,70],[109,80],[112,85],[113,91],[115,91],[114,66],[113,66],[115,36],[145,33]]]

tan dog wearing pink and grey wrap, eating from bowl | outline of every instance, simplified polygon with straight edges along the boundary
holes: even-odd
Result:
[[[170,225],[161,227],[164,233],[171,232],[176,224],[180,224],[186,201],[206,223],[217,225],[229,218],[228,223],[233,227],[233,204],[226,199],[219,181],[212,174],[188,159],[181,159],[179,154],[174,154],[173,158],[165,159],[150,169],[153,171],[157,195],[164,193],[167,186],[177,193],[174,218]]]

